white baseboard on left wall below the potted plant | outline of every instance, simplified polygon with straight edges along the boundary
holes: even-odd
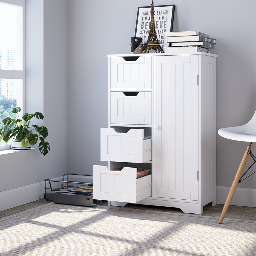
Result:
[[[52,180],[61,180],[61,177]],[[47,184],[48,185],[48,184]],[[44,198],[44,181],[0,192],[0,212]]]

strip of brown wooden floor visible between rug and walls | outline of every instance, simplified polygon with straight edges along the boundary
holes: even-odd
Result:
[[[12,214],[15,214],[18,212],[23,212],[28,209],[34,208],[36,206],[39,206],[42,204],[47,204],[50,202],[51,201],[46,201],[45,199],[40,199],[35,202],[23,204],[23,205],[14,207],[12,209],[8,209],[8,210],[0,212],[0,218],[4,218],[6,216],[9,216],[9,215],[12,215]],[[107,205],[107,203],[105,203],[105,204]],[[172,207],[150,206],[150,205],[142,205],[142,204],[127,204],[127,205],[125,205],[125,207],[133,208],[133,209],[142,209],[142,210],[144,209],[144,210],[153,210],[153,211],[162,211],[162,212],[182,213],[182,211],[180,209],[172,208]],[[223,208],[223,204],[217,204],[216,206],[207,204],[204,206],[204,213],[202,215],[219,218],[222,208]],[[231,218],[231,219],[255,220],[256,221],[256,208],[255,207],[230,205],[225,217]]]

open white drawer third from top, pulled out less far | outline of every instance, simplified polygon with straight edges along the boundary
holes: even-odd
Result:
[[[116,132],[113,128],[100,128],[100,160],[128,163],[151,161],[151,139],[143,138],[143,129]]]

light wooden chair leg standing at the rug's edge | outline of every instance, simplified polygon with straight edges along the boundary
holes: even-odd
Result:
[[[251,144],[250,144],[250,145],[251,145]],[[248,156],[249,156],[250,151],[251,151],[251,146],[248,146],[248,147],[246,148],[245,152],[244,152],[244,156],[243,156],[242,161],[241,161],[241,163],[240,163],[240,165],[239,165],[239,167],[238,167],[238,170],[237,170],[237,172],[236,172],[235,179],[234,179],[234,181],[233,181],[233,183],[232,183],[232,186],[231,186],[231,188],[230,188],[230,190],[229,190],[228,197],[227,197],[227,199],[226,199],[226,202],[225,202],[224,207],[223,207],[223,209],[222,209],[222,212],[221,212],[221,214],[220,214],[219,223],[222,223],[222,221],[223,221],[223,219],[224,219],[224,217],[225,217],[225,214],[226,214],[226,212],[227,212],[227,210],[228,210],[228,206],[229,206],[229,204],[230,204],[230,202],[231,202],[231,200],[232,200],[232,197],[234,196],[234,193],[235,193],[235,191],[236,191],[237,184],[238,184],[238,182],[239,182],[239,180],[240,180],[240,178],[241,178],[241,175],[242,175],[242,173],[243,173],[244,165],[245,165],[245,163],[246,163],[246,161],[247,161],[247,158],[248,158]]]

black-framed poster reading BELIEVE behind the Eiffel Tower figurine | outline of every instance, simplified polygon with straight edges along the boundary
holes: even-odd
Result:
[[[175,5],[154,6],[154,18],[157,39],[164,49],[169,43],[165,40],[165,32],[172,32]],[[150,29],[151,6],[138,7],[135,37],[142,37],[142,43],[146,44]]]

